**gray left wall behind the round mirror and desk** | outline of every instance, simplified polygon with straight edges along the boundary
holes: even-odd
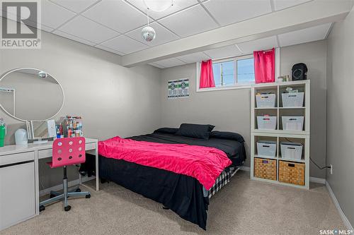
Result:
[[[126,137],[160,126],[159,68],[125,68],[120,66],[120,56],[47,32],[42,32],[42,49],[0,50],[0,74],[19,67],[40,68],[62,84],[65,104],[58,116],[83,116],[87,137]],[[2,110],[0,117],[8,124],[6,144],[14,143],[13,132],[23,123]],[[41,188],[62,181],[62,169],[49,169],[45,164],[40,169]],[[76,179],[74,172],[70,171],[70,180]]]

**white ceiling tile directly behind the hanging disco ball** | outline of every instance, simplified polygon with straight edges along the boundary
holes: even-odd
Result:
[[[154,28],[156,32],[156,38],[152,42],[147,42],[142,39],[142,28],[138,28],[137,30],[133,30],[131,32],[128,32],[126,35],[129,37],[134,38],[135,40],[145,43],[151,47],[157,46],[159,44],[164,44],[166,42],[171,42],[173,40],[177,40],[179,37],[174,35],[172,32],[169,30],[166,30],[163,26],[159,25],[159,23],[152,23],[150,24],[152,28]]]

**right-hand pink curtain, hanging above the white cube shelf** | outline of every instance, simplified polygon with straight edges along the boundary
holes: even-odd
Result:
[[[274,83],[275,49],[253,52],[253,58],[256,83]]]

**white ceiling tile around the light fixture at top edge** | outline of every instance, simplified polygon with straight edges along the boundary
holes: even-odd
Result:
[[[130,2],[130,4],[139,8],[142,12],[144,13],[147,12],[147,6],[145,6],[142,0],[127,0],[127,1]],[[166,11],[162,11],[162,12],[150,11],[149,15],[155,20],[157,20],[159,18],[170,15],[171,13],[175,13],[177,11],[181,11],[182,9],[188,8],[189,6],[193,6],[195,4],[198,4],[197,0],[174,0],[173,6],[168,8]]]

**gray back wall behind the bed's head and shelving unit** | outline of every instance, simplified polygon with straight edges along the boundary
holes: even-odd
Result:
[[[309,67],[311,87],[311,155],[318,164],[326,161],[326,41],[310,42],[280,49],[280,73],[291,74],[293,64]],[[183,122],[211,123],[215,130],[235,131],[246,140],[247,155],[251,139],[250,89],[195,92],[195,64],[165,68],[161,72],[161,126],[179,126]],[[167,81],[190,79],[190,97],[167,100]],[[246,165],[249,166],[249,157]],[[311,164],[310,175],[325,178],[326,172]]]

